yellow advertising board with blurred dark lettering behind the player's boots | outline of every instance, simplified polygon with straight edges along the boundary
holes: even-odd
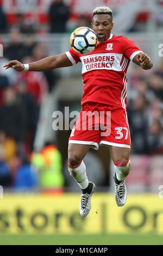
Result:
[[[0,199],[0,234],[163,234],[163,199],[128,195],[118,208],[114,195],[96,193],[86,218],[79,216],[79,194],[11,195]]]

